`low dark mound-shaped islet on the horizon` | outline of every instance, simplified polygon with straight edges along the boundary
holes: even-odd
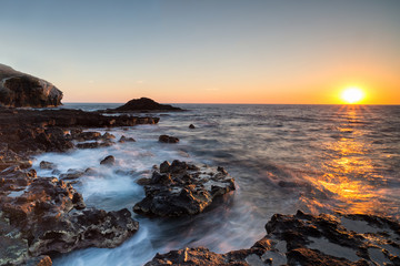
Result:
[[[169,104],[160,104],[149,98],[133,99],[117,109],[108,109],[104,112],[158,112],[158,111],[183,111]]]

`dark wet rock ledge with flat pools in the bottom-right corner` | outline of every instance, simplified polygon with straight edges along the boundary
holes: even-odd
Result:
[[[249,249],[216,254],[204,247],[157,254],[160,265],[400,265],[400,223],[373,215],[276,214]]]

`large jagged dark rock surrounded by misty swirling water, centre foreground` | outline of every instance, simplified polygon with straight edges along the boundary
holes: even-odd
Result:
[[[222,168],[198,167],[178,160],[163,162],[144,185],[146,198],[133,211],[150,216],[201,213],[216,196],[234,191],[234,180]]]

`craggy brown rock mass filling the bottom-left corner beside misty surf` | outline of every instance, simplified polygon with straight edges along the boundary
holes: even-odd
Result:
[[[0,173],[1,265],[86,247],[116,247],[138,231],[127,208],[86,208],[82,195],[54,177],[10,167]],[[72,212],[73,211],[73,212]]]

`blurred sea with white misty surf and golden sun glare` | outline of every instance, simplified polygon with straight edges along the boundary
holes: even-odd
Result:
[[[93,111],[120,104],[70,103]],[[132,213],[139,232],[120,247],[88,248],[62,255],[53,265],[143,265],[157,253],[206,246],[217,253],[249,248],[266,235],[276,214],[364,213],[400,218],[399,105],[174,104],[187,112],[157,113],[157,125],[96,129],[137,142],[96,150],[44,153],[41,161],[70,168],[97,168],[74,187],[88,207],[116,211],[143,196],[136,183],[153,165],[178,158],[223,166],[237,191],[204,213],[182,218],[147,218]],[[196,129],[190,130],[189,125]],[[161,134],[178,144],[158,142]],[[114,166],[99,162],[107,155]]]

